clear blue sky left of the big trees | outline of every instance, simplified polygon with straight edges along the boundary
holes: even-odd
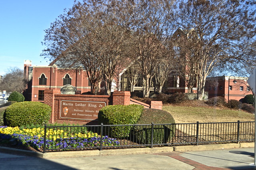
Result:
[[[0,0],[0,75],[8,68],[23,69],[24,60],[32,65],[48,65],[40,57],[45,29],[74,0]]]

